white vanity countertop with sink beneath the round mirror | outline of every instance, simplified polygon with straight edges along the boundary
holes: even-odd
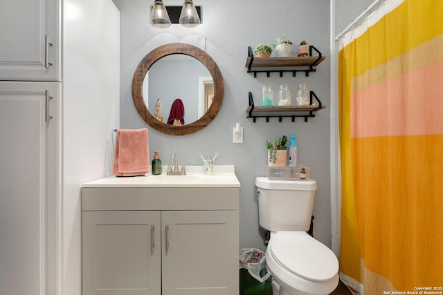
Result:
[[[202,166],[186,166],[186,175],[161,175],[132,177],[109,176],[82,184],[82,187],[240,187],[234,165],[216,165],[214,174],[204,175]]]

